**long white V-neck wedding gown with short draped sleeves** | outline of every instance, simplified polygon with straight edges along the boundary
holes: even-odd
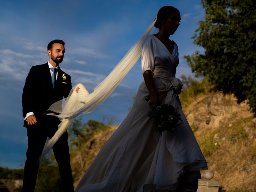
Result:
[[[101,148],[80,180],[76,192],[151,192],[172,190],[184,172],[186,180],[200,178],[207,162],[186,120],[176,90],[182,82],[175,78],[178,46],[172,54],[153,35],[142,47],[142,73],[151,70],[160,104],[173,105],[182,121],[173,132],[154,130],[146,101],[149,92],[143,81],[132,109]],[[113,106],[114,107],[114,106]]]

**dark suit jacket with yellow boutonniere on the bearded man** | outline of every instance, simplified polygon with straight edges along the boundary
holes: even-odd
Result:
[[[64,75],[63,75],[64,74]],[[48,63],[32,66],[22,93],[23,116],[28,112],[34,112],[38,122],[43,118],[44,113],[50,113],[48,108],[56,101],[68,97],[72,89],[71,78],[60,68],[55,87],[52,85],[52,78]],[[27,127],[24,121],[24,127]]]

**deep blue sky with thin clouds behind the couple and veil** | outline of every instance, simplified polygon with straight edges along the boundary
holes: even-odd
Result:
[[[204,20],[200,0],[2,0],[0,166],[24,166],[27,136],[22,127],[22,89],[31,66],[47,62],[48,42],[56,38],[66,42],[60,67],[71,75],[73,85],[83,83],[92,92],[165,5],[178,8],[182,17],[176,34],[170,37],[179,47],[176,77],[193,76],[183,56],[202,50],[191,39],[198,20]],[[102,106],[81,115],[83,121],[121,122],[141,82],[139,61]]]

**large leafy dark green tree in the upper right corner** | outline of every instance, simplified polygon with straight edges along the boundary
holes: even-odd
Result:
[[[204,53],[184,56],[196,76],[216,89],[249,99],[256,109],[256,1],[202,0],[205,20],[199,21],[194,44]]]

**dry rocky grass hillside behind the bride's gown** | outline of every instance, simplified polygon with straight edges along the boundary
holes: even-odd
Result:
[[[227,192],[256,191],[256,118],[248,104],[237,104],[232,95],[205,90],[186,99],[181,96],[181,100],[214,171],[212,180],[220,181]],[[75,185],[116,128],[99,132],[76,152],[72,158]]]

